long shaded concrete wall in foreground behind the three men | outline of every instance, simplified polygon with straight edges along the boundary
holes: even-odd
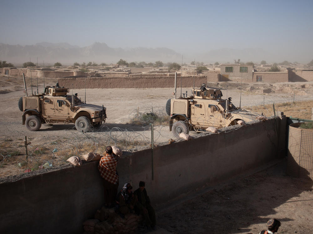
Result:
[[[249,124],[228,133],[133,152],[118,164],[120,187],[140,180],[154,203],[233,178],[273,160],[285,145],[285,121]],[[284,153],[282,153],[284,155]],[[103,204],[98,162],[0,184],[0,233],[82,233]],[[153,167],[152,167],[153,165]],[[153,168],[153,170],[152,170]],[[153,173],[153,176],[152,176]]]

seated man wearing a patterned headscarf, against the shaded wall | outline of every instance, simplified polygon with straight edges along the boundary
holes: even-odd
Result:
[[[137,202],[137,197],[133,194],[131,184],[124,184],[121,192],[116,196],[115,211],[122,214],[122,216],[133,213]]]

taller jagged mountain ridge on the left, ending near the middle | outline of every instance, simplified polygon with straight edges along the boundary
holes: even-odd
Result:
[[[111,48],[105,43],[95,42],[91,46],[79,47],[68,43],[49,43],[41,42],[35,45],[8,45],[0,43],[0,60],[12,63],[23,63],[37,61],[42,63],[61,62],[64,64],[73,64],[74,62],[105,62],[116,63],[121,58],[131,61],[179,61],[181,54],[168,48]]]

